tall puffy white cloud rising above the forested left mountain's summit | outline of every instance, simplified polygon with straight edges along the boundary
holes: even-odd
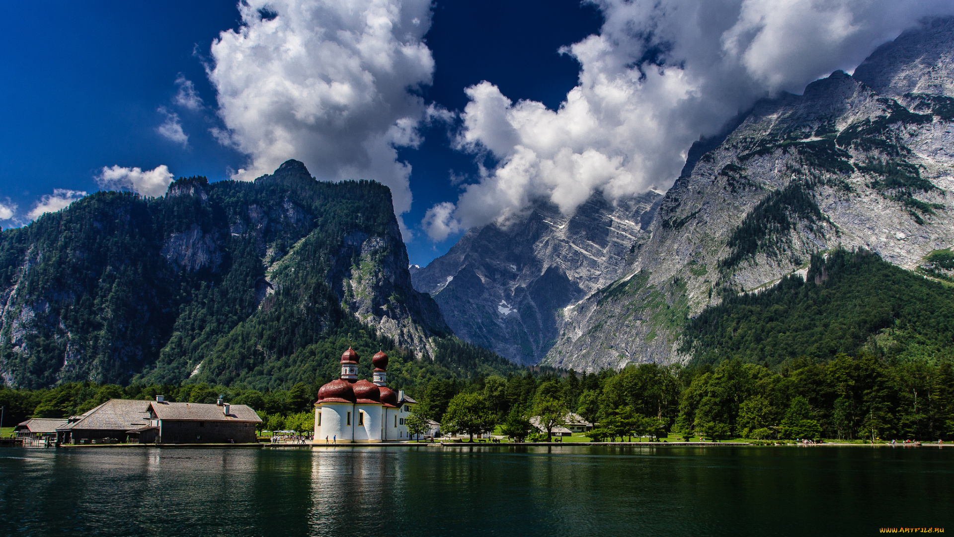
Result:
[[[422,38],[430,0],[249,0],[242,26],[221,32],[208,75],[218,92],[217,131],[250,157],[235,179],[303,161],[320,180],[372,179],[411,204],[410,166],[434,61]]]

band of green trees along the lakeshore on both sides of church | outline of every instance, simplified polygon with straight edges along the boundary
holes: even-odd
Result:
[[[368,365],[365,360],[363,368]],[[459,376],[446,369],[444,375],[417,377],[410,372],[421,366],[401,366],[393,369],[401,371],[397,376],[402,380],[390,385],[407,390],[420,402],[415,414],[447,425],[461,423],[459,430],[464,432],[468,426],[492,430],[499,425],[505,434],[526,435],[531,416],[559,418],[573,411],[598,423],[590,435],[594,440],[665,434],[753,440],[954,440],[950,360],[930,364],[861,352],[838,354],[828,361],[803,356],[771,369],[731,359],[687,367],[630,365],[619,372],[582,375],[524,369],[489,375],[471,370],[470,376]],[[204,383],[122,388],[82,382],[40,390],[0,388],[0,405],[6,408],[9,426],[28,416],[78,414],[110,397],[164,395],[168,400],[214,402],[224,395],[259,411],[263,429],[308,431],[317,389],[303,382],[273,391]]]

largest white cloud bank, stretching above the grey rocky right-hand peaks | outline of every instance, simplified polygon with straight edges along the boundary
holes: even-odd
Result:
[[[919,0],[595,0],[604,24],[562,50],[581,65],[559,110],[512,102],[489,82],[467,88],[459,147],[499,164],[457,204],[427,212],[434,240],[507,222],[537,200],[570,213],[592,192],[611,199],[668,189],[700,135],[759,97],[853,70],[923,16]]]

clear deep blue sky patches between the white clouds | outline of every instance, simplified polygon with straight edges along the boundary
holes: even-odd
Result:
[[[235,2],[40,1],[10,11],[18,22],[0,33],[7,80],[0,86],[0,201],[9,198],[21,217],[54,189],[100,189],[94,177],[103,166],[147,170],[165,164],[176,177],[218,181],[243,165],[245,155],[208,131],[222,125],[202,63],[218,32],[238,27]],[[506,18],[499,16],[504,11]],[[436,62],[434,83],[423,95],[461,110],[464,88],[487,79],[514,98],[555,108],[578,71],[557,49],[595,32],[599,22],[592,6],[572,0],[439,4],[425,36]],[[194,83],[205,108],[176,109],[179,74]],[[160,107],[181,118],[187,147],[156,132],[164,121]],[[414,202],[404,215],[412,229],[428,207],[456,198],[451,170],[476,170],[470,155],[450,147],[445,124],[425,128],[424,139],[419,148],[400,152],[412,165]],[[415,237],[408,243],[412,262],[426,264],[456,237],[438,244]]]

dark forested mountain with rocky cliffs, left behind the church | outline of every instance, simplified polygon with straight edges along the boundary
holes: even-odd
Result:
[[[432,357],[450,331],[407,266],[387,187],[299,161],[155,199],[97,192],[0,234],[0,375],[274,388],[345,341]]]

